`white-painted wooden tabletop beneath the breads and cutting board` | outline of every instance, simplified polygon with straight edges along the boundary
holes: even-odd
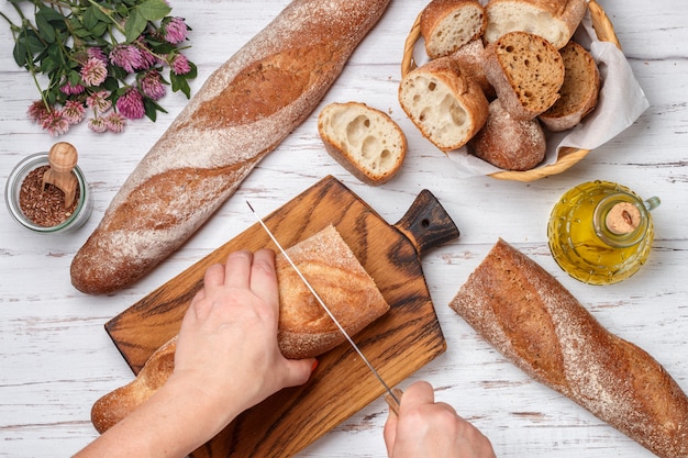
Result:
[[[193,27],[189,57],[193,82],[229,58],[265,26],[286,1],[187,0],[171,2]],[[124,291],[88,297],[69,282],[69,264],[114,192],[181,110],[168,94],[169,114],[130,123],[121,135],[81,125],[60,137],[77,146],[93,190],[95,210],[82,230],[41,236],[0,209],[0,456],[68,456],[96,437],[89,412],[100,395],[132,373],[103,324],[153,289],[241,233],[255,221],[245,199],[267,213],[326,175],[341,179],[388,222],[397,222],[424,188],[452,214],[460,238],[430,252],[426,281],[448,349],[420,370],[451,403],[490,437],[500,457],[648,457],[651,454],[572,401],[532,381],[506,361],[447,304],[498,237],[556,276],[613,333],[655,356],[688,391],[688,9],[684,0],[601,0],[614,24],[650,109],[612,142],[563,175],[532,183],[489,177],[457,179],[447,159],[424,141],[397,102],[399,63],[407,33],[424,1],[392,1],[386,15],[326,94],[363,101],[391,113],[409,138],[400,175],[373,188],[358,182],[324,152],[318,110],[244,181],[237,194],[180,250]],[[12,14],[9,2],[0,11]],[[0,26],[0,180],[24,156],[56,142],[30,123],[37,98],[29,75],[12,59],[9,27]],[[85,123],[84,123],[85,124]],[[630,280],[610,287],[579,283],[552,259],[546,241],[550,211],[567,189],[592,179],[624,183],[647,198],[656,241],[648,262]],[[301,453],[302,457],[382,457],[387,406],[378,400]]]

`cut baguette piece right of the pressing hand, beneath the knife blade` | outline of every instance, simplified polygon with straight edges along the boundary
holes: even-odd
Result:
[[[332,225],[287,249],[347,334],[389,311],[389,304]],[[276,258],[279,282],[279,347],[287,358],[311,358],[345,342],[336,324],[289,261]]]

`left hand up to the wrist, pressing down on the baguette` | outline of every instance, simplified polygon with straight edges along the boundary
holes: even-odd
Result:
[[[231,254],[225,266],[208,269],[203,289],[184,316],[168,382],[184,383],[219,416],[228,405],[241,412],[285,387],[304,383],[314,359],[281,355],[278,319],[275,254]]]

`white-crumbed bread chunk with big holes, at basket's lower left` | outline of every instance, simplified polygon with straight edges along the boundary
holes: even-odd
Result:
[[[485,93],[451,57],[409,71],[399,86],[399,103],[423,136],[444,152],[464,146],[487,121]]]

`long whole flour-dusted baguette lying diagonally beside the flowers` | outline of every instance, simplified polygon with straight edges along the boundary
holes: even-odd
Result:
[[[293,0],[215,70],[141,160],[71,262],[87,293],[175,252],[315,108],[389,0]]]

